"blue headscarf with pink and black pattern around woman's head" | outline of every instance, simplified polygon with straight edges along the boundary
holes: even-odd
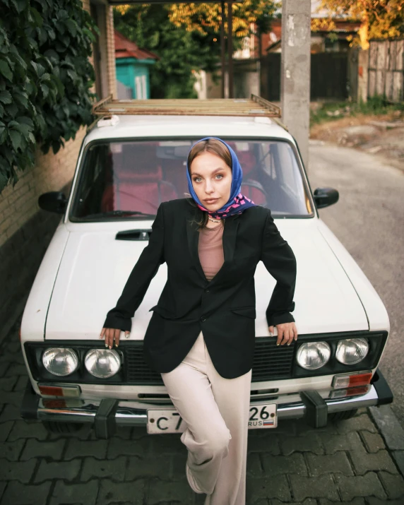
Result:
[[[224,143],[227,149],[229,150],[230,155],[232,156],[232,166],[230,167],[232,169],[232,187],[230,189],[229,201],[227,201],[227,203],[225,203],[225,205],[218,210],[208,210],[207,208],[203,207],[202,203],[199,201],[198,196],[196,196],[194,186],[192,186],[191,175],[189,174],[190,170],[187,162],[186,178],[188,179],[189,193],[191,194],[192,198],[194,198],[194,201],[196,202],[197,206],[201,210],[207,212],[210,215],[210,217],[214,219],[228,218],[230,215],[241,214],[244,210],[246,210],[246,208],[254,207],[256,205],[254,201],[250,200],[249,198],[241,194],[242,180],[243,180],[242,166],[240,165],[237,155],[236,153],[234,153],[234,150],[232,150],[230,145],[227,145],[225,141],[222,141],[221,138],[205,137],[201,138],[201,140],[198,142],[207,141],[210,138],[215,138],[215,140]],[[194,145],[196,145],[198,142],[196,142]],[[192,147],[194,147],[194,145]]]

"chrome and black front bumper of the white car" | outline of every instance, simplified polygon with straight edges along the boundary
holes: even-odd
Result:
[[[313,427],[326,425],[328,414],[384,405],[393,401],[393,393],[381,372],[376,370],[369,391],[361,396],[347,396],[344,398],[331,399],[321,398],[314,390],[300,391],[301,401],[293,403],[278,403],[278,420],[299,419],[304,417]],[[69,400],[66,400],[69,404]],[[263,403],[263,400],[257,401]],[[270,399],[265,403],[270,403]],[[254,402],[251,402],[254,405]],[[149,405],[150,408],[152,405]],[[155,405],[154,405],[155,408]],[[42,397],[32,390],[28,380],[27,388],[21,406],[21,417],[26,421],[52,421],[90,423],[95,427],[99,438],[109,438],[114,433],[117,425],[145,426],[147,423],[146,408],[133,408],[127,401],[105,400],[91,401],[84,405],[69,406],[57,405],[44,406]]]

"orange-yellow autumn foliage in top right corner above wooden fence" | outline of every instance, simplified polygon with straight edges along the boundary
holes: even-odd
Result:
[[[314,20],[311,23],[314,30],[333,30],[332,18],[344,16],[361,20],[360,30],[351,38],[351,44],[360,44],[362,49],[369,48],[370,39],[402,37],[404,34],[403,0],[321,0],[319,8],[328,10],[330,18]]]

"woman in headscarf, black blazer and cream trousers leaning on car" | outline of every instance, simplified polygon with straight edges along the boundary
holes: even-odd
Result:
[[[158,208],[148,246],[102,328],[105,345],[129,336],[131,318],[164,261],[167,283],[152,307],[145,359],[162,375],[186,422],[186,477],[205,505],[244,505],[251,367],[255,342],[254,271],[261,260],[277,284],[266,310],[277,345],[297,340],[296,260],[271,211],[240,193],[242,167],[219,138],[191,148],[191,199]],[[191,205],[189,205],[191,203]]]

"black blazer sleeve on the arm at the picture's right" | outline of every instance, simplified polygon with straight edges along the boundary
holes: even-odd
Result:
[[[269,209],[263,232],[261,261],[276,280],[266,309],[268,326],[295,321],[290,312],[295,310],[293,295],[296,285],[296,258],[290,245],[280,235]]]

